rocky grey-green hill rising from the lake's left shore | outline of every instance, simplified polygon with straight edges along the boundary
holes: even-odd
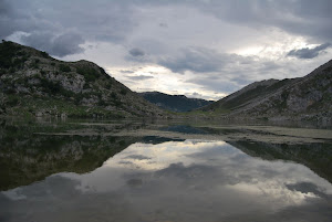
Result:
[[[2,41],[0,115],[165,117],[165,112],[92,62],[63,62],[45,52]]]

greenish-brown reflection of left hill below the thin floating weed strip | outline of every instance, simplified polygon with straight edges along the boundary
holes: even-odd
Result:
[[[38,135],[22,125],[0,126],[0,191],[27,186],[58,172],[90,172],[138,140],[97,135]]]

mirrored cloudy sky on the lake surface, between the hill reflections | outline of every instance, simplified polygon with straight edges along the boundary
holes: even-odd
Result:
[[[225,141],[131,145],[93,172],[0,194],[3,221],[330,221],[332,186],[308,167]]]

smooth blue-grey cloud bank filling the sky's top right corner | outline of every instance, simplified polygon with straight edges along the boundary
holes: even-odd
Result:
[[[238,24],[255,28],[277,27],[319,41],[332,39],[331,0],[211,0],[196,4],[203,11]]]

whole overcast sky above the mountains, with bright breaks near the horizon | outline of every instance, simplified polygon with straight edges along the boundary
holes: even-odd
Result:
[[[331,0],[0,0],[0,38],[136,92],[218,99],[332,59]]]

